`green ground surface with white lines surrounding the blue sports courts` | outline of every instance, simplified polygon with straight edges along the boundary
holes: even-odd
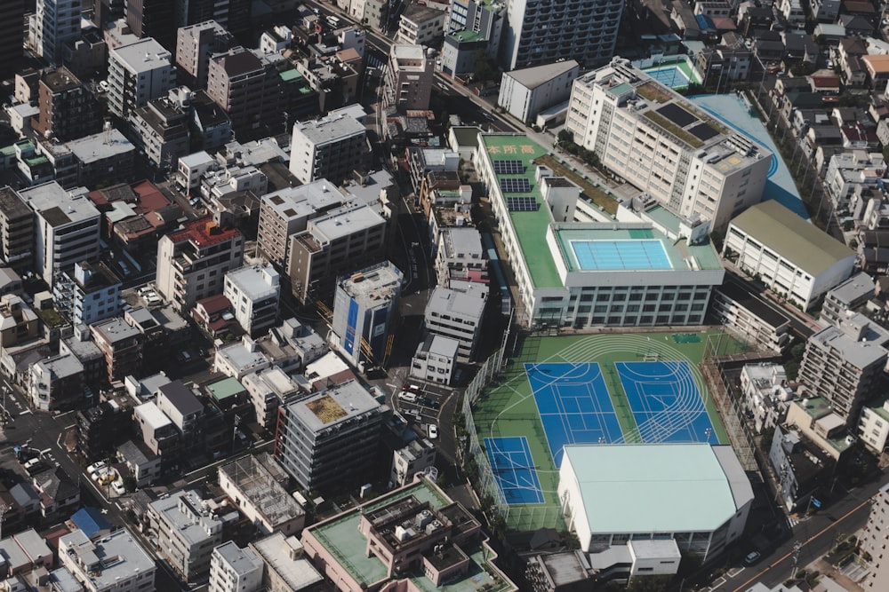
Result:
[[[698,368],[705,351],[712,355],[715,350],[722,355],[737,353],[743,351],[743,345],[718,329],[694,334],[669,331],[520,337],[516,353],[508,360],[504,371],[472,405],[479,441],[491,437],[525,436],[531,449],[544,502],[524,506],[510,504],[508,527],[528,531],[552,527],[562,520],[557,497],[558,468],[552,460],[531,385],[525,375],[525,363],[597,362],[602,368],[623,437],[626,442],[634,443],[641,440],[614,363],[687,361],[704,399],[714,436],[719,444],[728,444],[725,428]]]

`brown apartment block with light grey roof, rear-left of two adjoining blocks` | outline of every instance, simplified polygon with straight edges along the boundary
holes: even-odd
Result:
[[[345,198],[336,185],[319,179],[267,193],[260,200],[257,246],[272,264],[284,267],[290,237],[306,230],[309,219],[342,205]]]

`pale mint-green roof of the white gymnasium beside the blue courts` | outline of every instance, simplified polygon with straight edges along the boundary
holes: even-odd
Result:
[[[707,444],[565,446],[562,470],[573,468],[591,533],[709,532],[753,499],[720,448],[733,458]]]

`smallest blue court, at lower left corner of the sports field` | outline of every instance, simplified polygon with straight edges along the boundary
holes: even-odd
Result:
[[[507,503],[543,503],[541,481],[537,478],[528,438],[485,438],[485,454]]]

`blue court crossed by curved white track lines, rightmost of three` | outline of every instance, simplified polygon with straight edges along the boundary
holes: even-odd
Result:
[[[615,362],[646,443],[718,444],[688,362]]]

